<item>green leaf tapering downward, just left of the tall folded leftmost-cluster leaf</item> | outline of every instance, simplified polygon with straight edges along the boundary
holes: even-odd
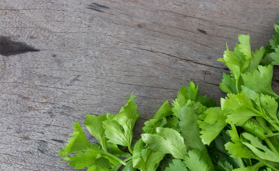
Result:
[[[102,116],[95,116],[87,114],[85,119],[85,125],[88,131],[96,138],[96,140],[102,146],[104,151],[107,151],[107,138],[105,136],[105,129],[102,126],[102,122],[107,120],[107,116],[103,114]]]

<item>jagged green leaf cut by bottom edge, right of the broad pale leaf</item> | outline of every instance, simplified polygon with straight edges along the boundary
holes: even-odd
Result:
[[[207,152],[204,151],[189,150],[184,163],[191,171],[214,171],[214,165]]]

